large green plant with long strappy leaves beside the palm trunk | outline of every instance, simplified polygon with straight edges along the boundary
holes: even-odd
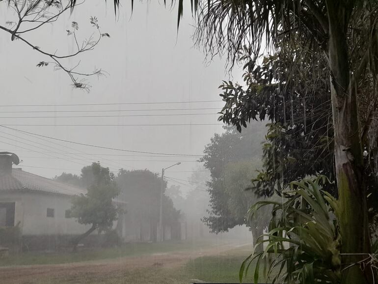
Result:
[[[337,284],[341,281],[341,236],[338,229],[338,204],[322,190],[325,176],[290,183],[289,198],[282,202],[260,201],[248,211],[249,216],[264,206],[272,206],[269,232],[259,244],[262,252],[254,251],[242,263],[240,281],[255,265],[254,283],[264,264],[265,277],[272,283]],[[289,245],[289,247],[286,244]],[[274,256],[273,260],[269,260]]]

